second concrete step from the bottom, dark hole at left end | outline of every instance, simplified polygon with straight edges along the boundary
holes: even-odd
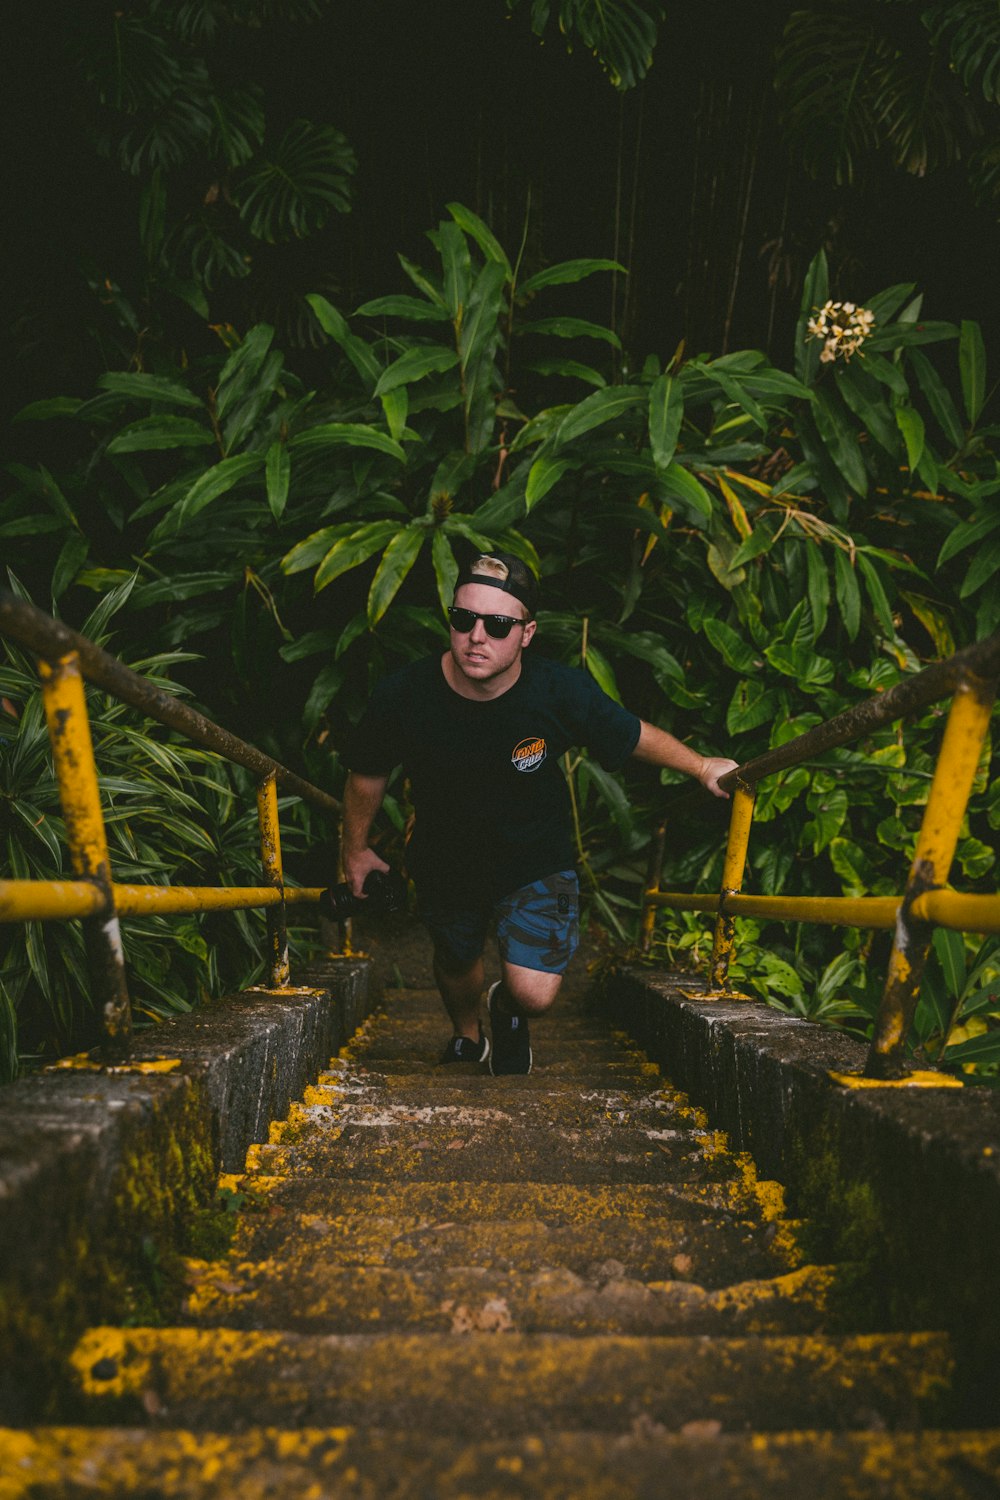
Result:
[[[481,1438],[547,1428],[678,1432],[919,1430],[954,1374],[940,1334],[627,1338],[555,1334],[313,1336],[234,1329],[90,1329],[70,1359],[94,1422],[204,1431],[394,1426]]]

